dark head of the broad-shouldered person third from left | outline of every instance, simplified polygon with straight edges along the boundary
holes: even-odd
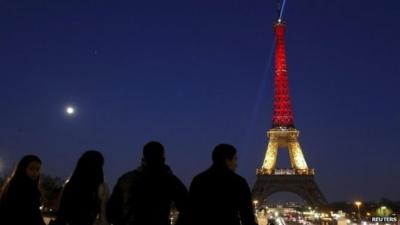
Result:
[[[164,146],[151,141],[143,147],[143,163],[146,166],[162,166],[165,163]]]

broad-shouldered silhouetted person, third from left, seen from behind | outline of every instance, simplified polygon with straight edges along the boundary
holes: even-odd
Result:
[[[143,148],[141,165],[119,178],[107,204],[107,219],[114,225],[169,225],[174,203],[181,224],[187,195],[165,164],[164,147],[152,141]]]

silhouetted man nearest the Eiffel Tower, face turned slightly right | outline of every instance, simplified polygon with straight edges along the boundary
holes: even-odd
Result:
[[[217,145],[212,166],[193,178],[189,189],[193,225],[255,225],[251,193],[246,180],[235,173],[236,149]]]

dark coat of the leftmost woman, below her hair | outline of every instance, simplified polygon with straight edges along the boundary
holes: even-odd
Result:
[[[0,224],[44,225],[39,209],[40,200],[36,182],[28,178],[12,180],[0,199]]]

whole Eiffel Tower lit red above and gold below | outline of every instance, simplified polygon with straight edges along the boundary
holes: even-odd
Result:
[[[276,192],[287,191],[299,195],[312,206],[323,206],[327,200],[315,182],[315,170],[307,166],[298,140],[300,132],[294,126],[287,76],[285,24],[281,19],[274,24],[274,31],[276,46],[272,128],[267,132],[269,143],[263,165],[256,171],[253,199],[263,202]],[[289,151],[290,169],[276,168],[280,148]]]

